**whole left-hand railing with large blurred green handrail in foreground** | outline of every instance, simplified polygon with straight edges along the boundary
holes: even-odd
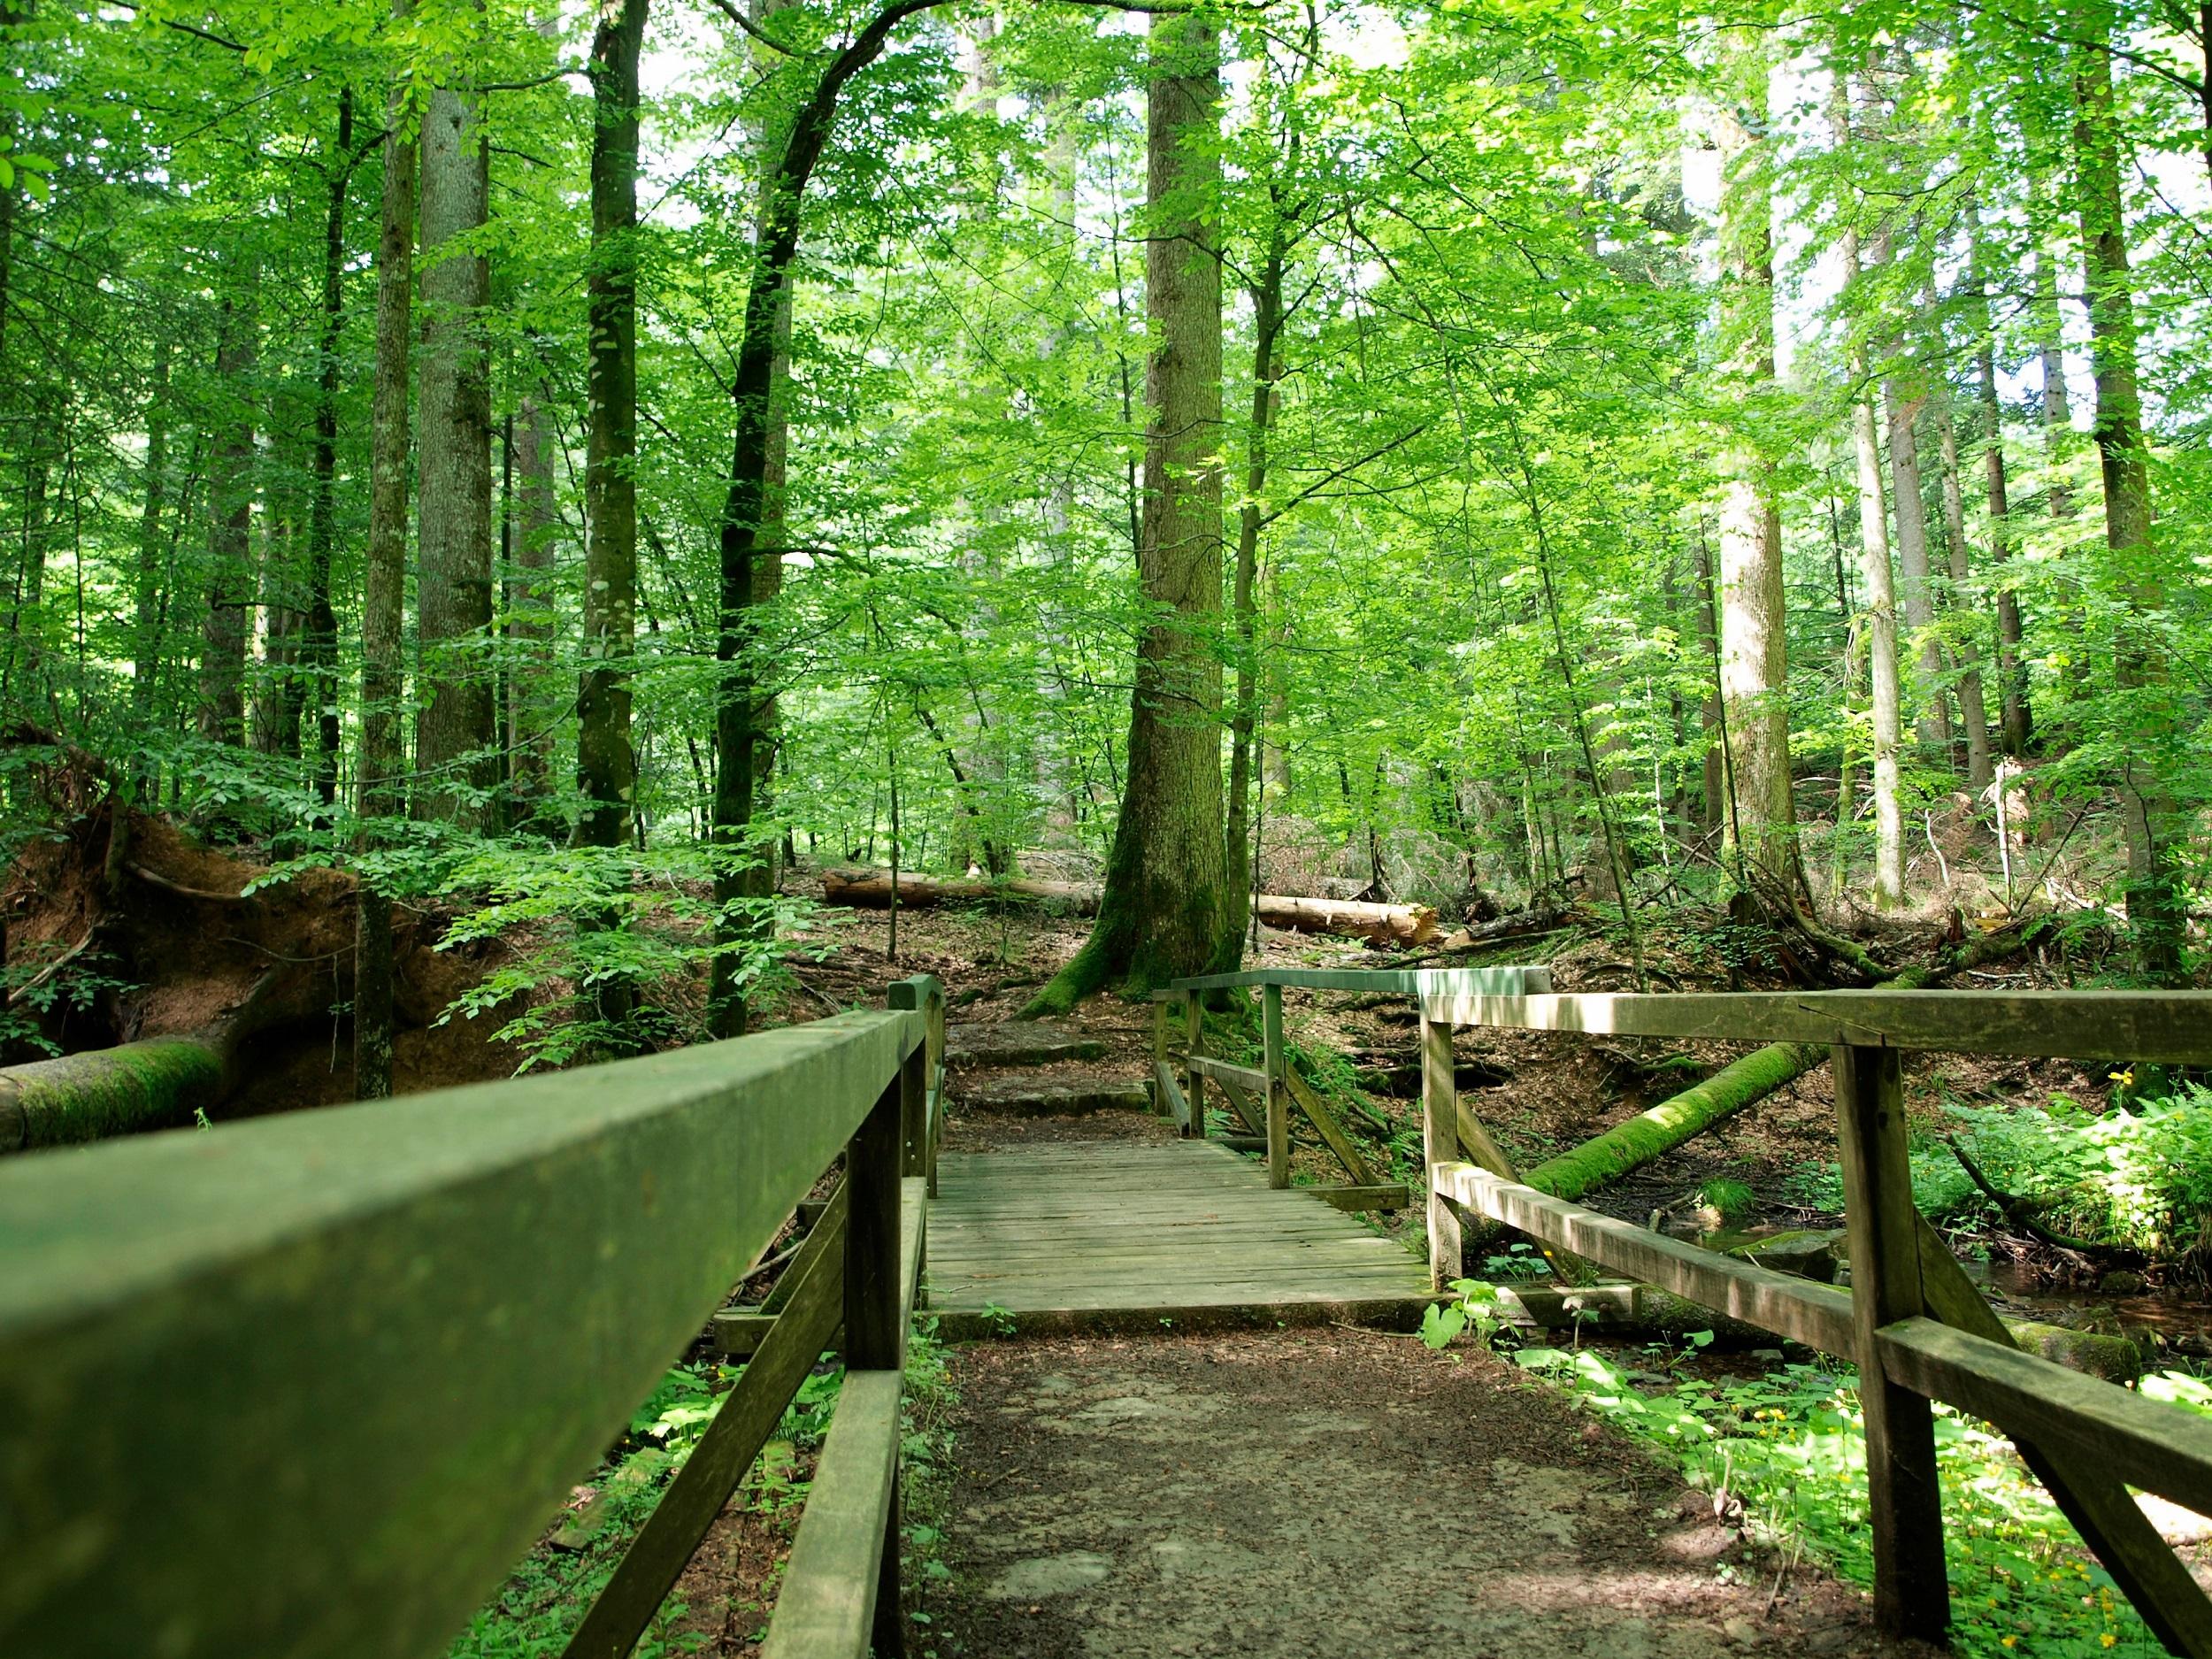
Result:
[[[0,1168],[0,1652],[438,1655],[843,1159],[568,1655],[626,1655],[832,1343],[768,1652],[898,1635],[942,993]],[[838,1338],[843,1329],[843,1338]]]

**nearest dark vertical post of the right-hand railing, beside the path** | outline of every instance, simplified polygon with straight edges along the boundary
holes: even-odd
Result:
[[[1851,1327],[1858,1405],[1867,1425],[1874,1528],[1874,1624],[1887,1637],[1944,1639],[1951,1586],[1942,1562],[1942,1491],[1929,1400],[1889,1383],[1874,1334],[1916,1318],[1920,1217],[1905,1144],[1905,1071],[1896,1048],[1838,1044],[1836,1137],[1843,1210],[1851,1232]]]

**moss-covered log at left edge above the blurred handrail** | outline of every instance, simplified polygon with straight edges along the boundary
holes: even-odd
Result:
[[[223,1097],[223,1057],[199,1037],[148,1037],[0,1071],[0,1150],[190,1124]]]

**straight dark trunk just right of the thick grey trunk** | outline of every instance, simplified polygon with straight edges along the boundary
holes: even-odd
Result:
[[[588,422],[584,493],[584,686],[575,765],[584,847],[630,834],[637,757],[630,668],[637,650],[637,51],[646,0],[602,0],[591,38]]]

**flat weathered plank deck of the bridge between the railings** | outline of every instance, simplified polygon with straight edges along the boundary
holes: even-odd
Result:
[[[1429,1274],[1402,1245],[1210,1141],[945,1152],[929,1307],[947,1338],[1312,1325],[1411,1329]]]

